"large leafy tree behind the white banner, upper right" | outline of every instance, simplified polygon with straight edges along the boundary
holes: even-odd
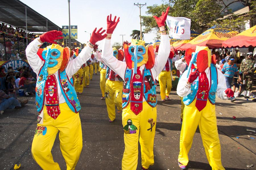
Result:
[[[156,32],[156,38],[160,37],[159,28],[152,16],[160,16],[168,6],[171,7],[168,15],[190,18],[191,30],[196,32],[201,32],[203,27],[214,25],[217,25],[216,28],[218,29],[238,31],[248,20],[250,20],[251,26],[255,25],[256,2],[254,0],[233,0],[228,1],[228,4],[225,4],[224,0],[163,0],[163,2],[162,5],[148,6],[146,11],[148,16],[142,16],[144,32]],[[234,15],[229,7],[235,2],[241,2],[243,5],[249,6],[249,13],[242,16]],[[223,19],[223,16],[226,16],[226,18]]]

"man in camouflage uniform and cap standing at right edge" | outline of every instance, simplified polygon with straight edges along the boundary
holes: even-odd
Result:
[[[248,99],[253,85],[253,73],[256,70],[256,61],[253,59],[252,52],[248,52],[246,56],[247,58],[243,59],[241,63],[240,70],[243,73],[244,79],[244,98]]]

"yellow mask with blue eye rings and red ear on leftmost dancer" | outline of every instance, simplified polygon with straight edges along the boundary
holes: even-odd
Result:
[[[61,47],[58,44],[51,44],[44,48],[42,58],[45,60],[48,74],[54,74],[59,69],[63,71],[67,67],[70,57],[68,47]]]

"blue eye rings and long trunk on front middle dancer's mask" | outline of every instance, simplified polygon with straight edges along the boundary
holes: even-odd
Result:
[[[142,51],[139,51],[139,49]],[[128,48],[128,52],[131,55],[131,60],[134,62],[134,73],[137,74],[137,63],[143,61],[143,55],[146,54],[146,48],[142,45],[131,45]]]

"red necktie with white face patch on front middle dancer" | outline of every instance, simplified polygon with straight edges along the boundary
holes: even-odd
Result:
[[[140,71],[140,67],[137,67],[137,74],[133,75],[131,81],[131,98],[130,108],[134,114],[138,115],[142,111],[143,106],[143,77]]]

